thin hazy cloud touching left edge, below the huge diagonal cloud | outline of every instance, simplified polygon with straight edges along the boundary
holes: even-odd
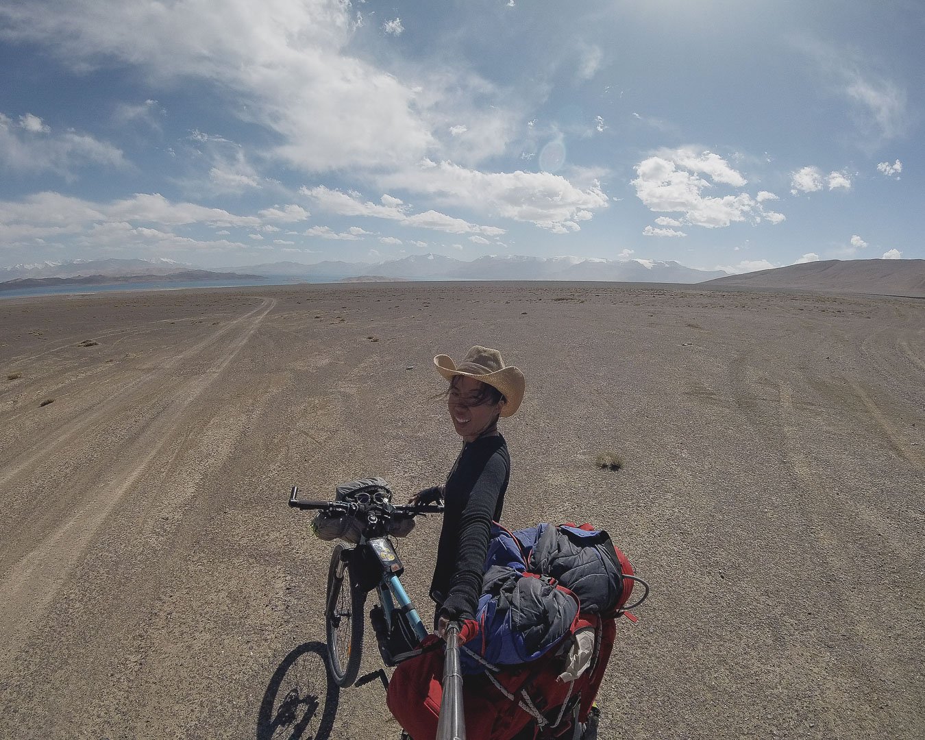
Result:
[[[14,172],[53,172],[68,180],[83,166],[129,167],[116,146],[77,131],[53,132],[31,113],[19,117],[18,124],[0,113],[0,165]]]

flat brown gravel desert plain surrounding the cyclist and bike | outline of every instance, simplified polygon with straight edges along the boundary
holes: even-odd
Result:
[[[441,482],[432,358],[475,343],[527,378],[504,524],[598,524],[651,584],[601,738],[925,736],[925,301],[606,283],[0,301],[0,736],[397,739],[380,681],[327,685],[286,499]],[[438,530],[399,545],[425,622]]]

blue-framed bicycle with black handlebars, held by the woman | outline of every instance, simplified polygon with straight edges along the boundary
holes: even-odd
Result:
[[[416,655],[414,646],[429,631],[401,586],[404,566],[388,533],[392,524],[443,512],[443,506],[395,506],[388,487],[378,484],[358,487],[349,498],[333,501],[301,500],[299,487],[293,486],[289,505],[351,517],[359,524],[355,546],[336,544],[327,571],[327,657],[334,683],[350,686],[356,681],[363,657],[366,595],[374,589],[378,604],[370,611],[370,622],[383,662],[392,667]]]

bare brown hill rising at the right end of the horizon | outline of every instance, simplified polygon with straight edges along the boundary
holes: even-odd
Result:
[[[825,260],[710,280],[709,286],[834,290],[925,298],[925,260]]]

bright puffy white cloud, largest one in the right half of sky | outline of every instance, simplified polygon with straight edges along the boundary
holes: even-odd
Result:
[[[746,192],[722,197],[704,195],[704,191],[716,184],[733,187],[746,184],[740,173],[711,152],[698,153],[692,147],[660,150],[659,154],[636,165],[635,171],[636,179],[632,184],[639,200],[656,213],[682,213],[683,222],[679,223],[722,228],[746,218],[766,219],[772,223],[783,219],[780,214],[765,214],[758,201]]]

